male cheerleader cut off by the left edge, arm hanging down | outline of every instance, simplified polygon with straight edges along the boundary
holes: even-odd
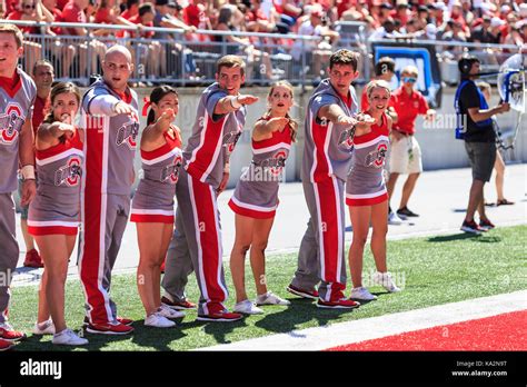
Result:
[[[19,161],[23,179],[21,205],[29,205],[37,192],[31,125],[37,87],[17,68],[22,44],[22,32],[16,26],[0,24],[0,351],[26,337],[8,322],[9,285],[19,255],[11,196],[17,189]]]

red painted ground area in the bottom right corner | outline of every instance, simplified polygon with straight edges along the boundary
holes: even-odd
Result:
[[[527,310],[443,325],[327,350],[527,350]]]

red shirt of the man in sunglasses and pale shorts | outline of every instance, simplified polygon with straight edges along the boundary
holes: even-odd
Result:
[[[391,93],[389,106],[395,109],[398,117],[392,129],[407,135],[416,132],[417,116],[426,115],[429,109],[428,102],[419,91],[412,90],[411,95],[408,95],[402,86]]]

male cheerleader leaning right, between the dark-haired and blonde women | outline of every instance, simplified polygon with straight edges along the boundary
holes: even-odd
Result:
[[[201,95],[192,135],[183,151],[162,302],[173,309],[192,307],[186,299],[185,286],[193,270],[201,291],[198,320],[235,321],[241,315],[229,312],[223,305],[228,292],[217,196],[229,180],[229,157],[243,130],[245,106],[258,98],[239,93],[245,82],[245,62],[237,56],[218,60],[216,80]]]

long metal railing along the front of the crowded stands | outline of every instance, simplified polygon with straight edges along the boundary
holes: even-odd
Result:
[[[349,48],[360,53],[358,83],[370,79],[372,71],[372,43],[401,42],[405,46],[432,44],[447,83],[457,79],[457,59],[469,51],[481,60],[485,70],[495,70],[516,46],[470,43],[459,41],[418,40],[404,38],[368,39],[368,26],[364,22],[339,21],[335,30],[339,40],[335,44],[320,37],[260,32],[197,30],[187,33],[182,29],[146,28],[98,23],[34,22],[0,20],[19,27],[34,27],[41,33],[24,34],[23,66],[31,69],[39,59],[50,60],[57,79],[87,85],[91,75],[101,72],[101,60],[108,47],[119,42],[130,49],[135,71],[131,81],[146,86],[173,83],[192,86],[215,80],[216,61],[223,54],[236,53],[247,63],[248,85],[269,85],[287,79],[294,85],[310,85],[321,77],[331,50]],[[89,36],[50,36],[48,29],[84,28]],[[141,33],[153,32],[151,39]],[[97,36],[93,36],[97,34]],[[229,36],[245,38],[247,44],[229,42]],[[249,43],[250,42],[250,43]]]

